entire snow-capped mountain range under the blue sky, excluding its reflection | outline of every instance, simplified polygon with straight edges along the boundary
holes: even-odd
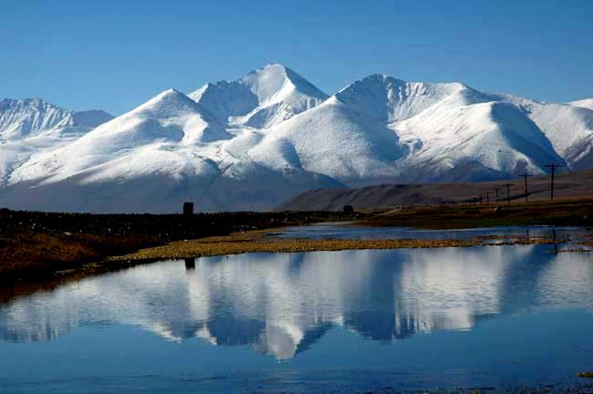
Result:
[[[117,118],[0,101],[0,206],[66,212],[268,210],[311,189],[494,181],[593,168],[593,99],[362,78],[328,96],[270,64]]]

